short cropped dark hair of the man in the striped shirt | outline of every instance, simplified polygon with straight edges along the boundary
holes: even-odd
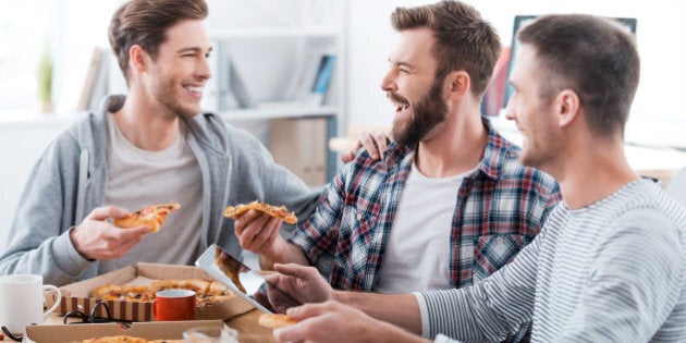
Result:
[[[572,89],[593,133],[624,134],[640,75],[628,29],[593,15],[548,15],[522,29],[518,39],[537,50],[546,79],[541,98]]]

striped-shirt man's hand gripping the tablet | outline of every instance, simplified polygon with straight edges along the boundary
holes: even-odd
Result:
[[[315,267],[274,265],[278,273],[265,275],[269,303],[279,313],[305,303],[333,298],[333,289]]]

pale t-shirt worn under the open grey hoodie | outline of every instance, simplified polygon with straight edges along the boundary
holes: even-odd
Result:
[[[144,206],[179,203],[162,228],[150,233],[120,259],[101,261],[99,273],[136,262],[191,265],[200,242],[203,177],[186,143],[186,127],[167,149],[147,151],[122,135],[111,113],[107,117],[108,179],[105,204],[137,210]]]

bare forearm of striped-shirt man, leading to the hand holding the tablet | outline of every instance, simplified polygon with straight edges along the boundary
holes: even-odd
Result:
[[[409,332],[421,334],[421,314],[412,294],[390,295],[334,291],[333,298],[363,310],[379,320],[388,321]]]

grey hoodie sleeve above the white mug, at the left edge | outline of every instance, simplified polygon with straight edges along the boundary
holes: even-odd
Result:
[[[45,283],[73,282],[90,264],[74,248],[78,148],[65,133],[35,164],[17,204],[0,274],[33,273]]]

